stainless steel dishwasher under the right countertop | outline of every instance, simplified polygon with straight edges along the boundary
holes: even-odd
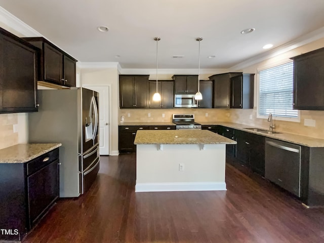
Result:
[[[265,140],[265,178],[300,197],[300,146]]]

